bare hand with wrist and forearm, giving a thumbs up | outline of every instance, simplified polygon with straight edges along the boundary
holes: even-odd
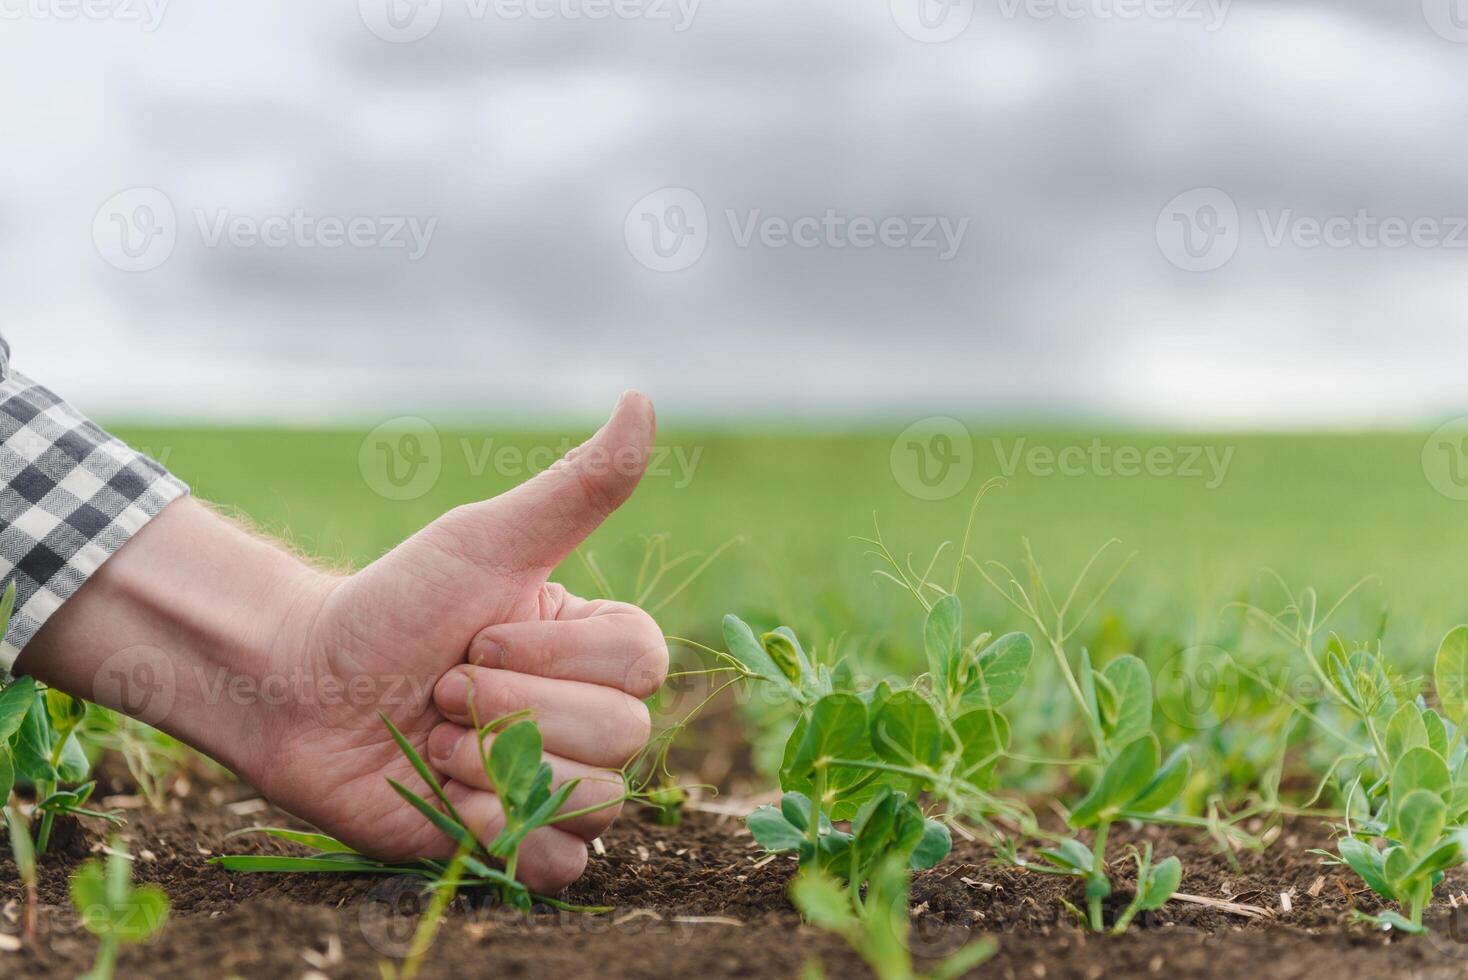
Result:
[[[584,780],[570,808],[615,801],[615,769],[647,741],[640,698],[662,684],[666,647],[642,610],[575,599],[548,577],[633,493],[653,430],[652,405],[624,396],[590,442],[546,472],[451,511],[346,578],[178,502],[51,618],[18,669],[97,700],[109,656],[157,650],[176,694],[164,717],[147,720],[376,857],[452,852],[388,785],[390,776],[424,789],[379,710],[448,778],[455,807],[486,841],[502,814],[476,758],[470,703],[482,723],[534,712],[556,778]],[[272,682],[292,695],[266,697]],[[570,885],[584,870],[586,841],[617,811],[533,833],[521,880],[545,893]]]

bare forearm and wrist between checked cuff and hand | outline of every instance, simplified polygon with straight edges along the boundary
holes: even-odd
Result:
[[[266,764],[260,707],[270,679],[288,684],[336,581],[179,499],[47,621],[15,670],[139,717],[251,778]]]

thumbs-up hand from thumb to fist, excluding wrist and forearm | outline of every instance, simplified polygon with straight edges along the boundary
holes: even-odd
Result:
[[[528,709],[558,783],[583,780],[568,808],[618,800],[617,770],[649,738],[642,698],[662,684],[666,646],[640,609],[578,599],[548,578],[636,490],[653,433],[652,403],[624,395],[600,431],[536,478],[451,511],[352,577],[302,588],[298,626],[279,634],[272,657],[342,694],[263,723],[247,775],[276,805],[363,852],[446,857],[449,841],[388,785],[390,776],[423,789],[377,712],[487,841],[504,817],[471,719]],[[521,880],[543,893],[574,882],[587,841],[618,808],[530,835]]]

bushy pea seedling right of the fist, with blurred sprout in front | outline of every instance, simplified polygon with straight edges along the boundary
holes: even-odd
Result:
[[[931,604],[923,638],[925,684],[853,691],[847,665],[816,663],[793,631],[756,638],[741,619],[724,621],[735,669],[800,709],[780,770],[780,807],[752,813],[750,833],[771,852],[799,857],[791,901],[846,937],[884,980],[918,976],[906,942],[910,874],[953,846],[947,824],[926,816],[919,798],[932,792],[950,807],[1004,810],[988,794],[1010,736],[998,709],[1019,691],[1032,654],[1023,634],[964,643],[951,594]],[[837,829],[838,820],[850,820],[850,830]],[[992,951],[973,943],[931,976],[959,976]]]

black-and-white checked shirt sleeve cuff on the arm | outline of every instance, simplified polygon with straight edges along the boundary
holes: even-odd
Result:
[[[18,371],[0,340],[0,581],[9,670],[51,613],[188,487]]]

